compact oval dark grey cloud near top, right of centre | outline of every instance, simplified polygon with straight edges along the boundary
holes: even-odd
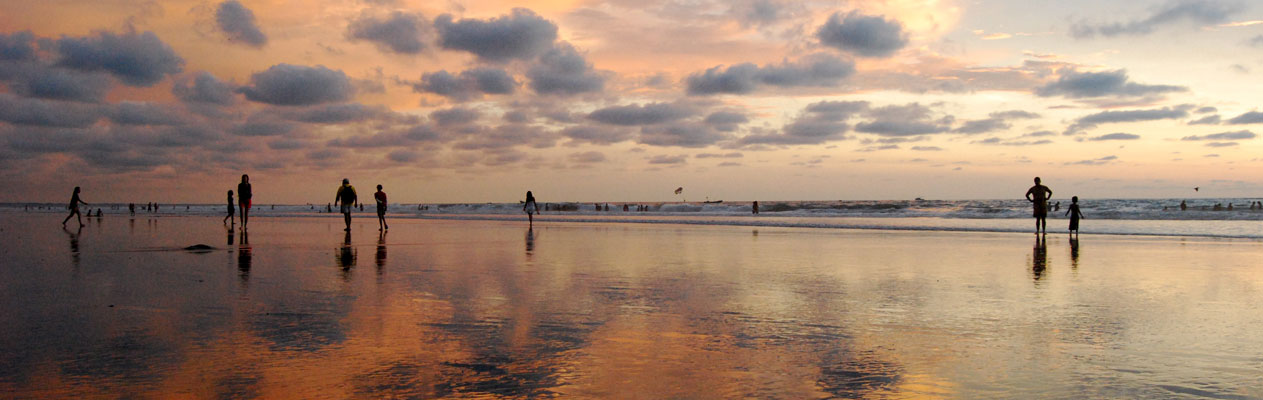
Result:
[[[835,13],[816,30],[820,43],[863,57],[888,57],[908,44],[908,35],[897,20]]]

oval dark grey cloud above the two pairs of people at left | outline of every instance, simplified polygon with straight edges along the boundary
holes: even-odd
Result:
[[[355,87],[346,73],[325,66],[275,64],[250,76],[236,92],[250,101],[278,106],[311,106],[350,100]]]

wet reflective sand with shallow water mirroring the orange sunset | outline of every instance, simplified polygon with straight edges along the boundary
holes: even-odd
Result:
[[[16,397],[1263,397],[1258,241],[0,218]]]

